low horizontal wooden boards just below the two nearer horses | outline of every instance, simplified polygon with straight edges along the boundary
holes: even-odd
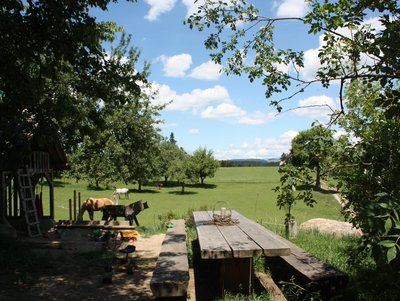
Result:
[[[93,228],[93,229],[105,229],[105,230],[134,230],[136,226],[130,226],[129,221],[69,221],[60,220],[56,225],[56,228],[68,229],[68,228]]]

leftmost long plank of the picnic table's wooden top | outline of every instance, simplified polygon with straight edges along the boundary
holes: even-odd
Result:
[[[216,225],[210,224],[211,215],[205,211],[193,212],[200,254],[203,259],[222,259],[232,257],[232,250]]]

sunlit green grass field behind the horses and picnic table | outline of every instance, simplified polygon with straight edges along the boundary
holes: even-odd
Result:
[[[272,188],[279,184],[277,167],[227,167],[219,168],[214,178],[206,178],[205,185],[187,185],[185,193],[181,194],[180,186],[163,187],[143,186],[142,192],[137,191],[137,185],[114,183],[116,187],[128,187],[131,191],[129,200],[121,199],[120,204],[134,201],[147,201],[150,208],[138,216],[141,226],[153,227],[159,225],[159,215],[173,212],[181,216],[189,209],[198,210],[207,206],[208,209],[219,209],[221,206],[239,211],[250,219],[263,224],[282,225],[284,211],[276,207],[276,194]],[[41,188],[39,188],[41,189]],[[46,197],[46,187],[43,187]],[[73,198],[74,190],[81,194],[81,200],[88,197],[112,198],[113,188],[90,189],[87,183],[75,183],[73,179],[62,179],[55,187],[55,219],[68,219],[68,200]],[[295,205],[293,214],[298,223],[305,220],[323,217],[341,220],[340,207],[330,194],[315,192],[317,205],[314,208],[302,203]],[[221,202],[223,202],[221,204]],[[48,201],[43,201],[44,210],[48,212]],[[87,215],[84,216],[88,219]],[[101,213],[95,212],[95,219],[101,219]]]

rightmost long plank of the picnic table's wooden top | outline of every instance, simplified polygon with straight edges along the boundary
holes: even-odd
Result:
[[[290,254],[290,247],[282,238],[262,225],[247,219],[236,211],[232,211],[232,218],[239,220],[237,225],[262,249],[265,256],[284,256]]]

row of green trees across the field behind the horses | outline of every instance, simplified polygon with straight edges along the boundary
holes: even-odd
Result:
[[[127,125],[119,128],[129,129]],[[95,188],[117,181],[127,185],[137,183],[139,191],[150,183],[168,186],[176,182],[184,193],[186,184],[204,185],[205,179],[214,177],[219,167],[212,150],[199,147],[188,154],[178,146],[173,133],[169,138],[159,136],[148,140],[146,149],[140,151],[136,148],[136,139],[127,136],[120,143],[115,130],[111,132],[103,132],[97,141],[86,137],[75,152],[68,154],[71,169],[65,176],[76,181],[84,179]]]

